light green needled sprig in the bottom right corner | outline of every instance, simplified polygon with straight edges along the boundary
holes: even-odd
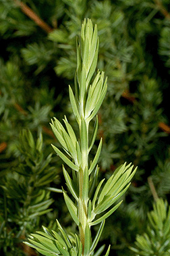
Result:
[[[148,213],[146,233],[136,236],[137,248],[131,249],[136,255],[167,256],[170,252],[170,207],[167,201],[158,199],[153,208],[153,211]]]

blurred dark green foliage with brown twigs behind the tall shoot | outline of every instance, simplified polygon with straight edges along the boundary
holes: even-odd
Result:
[[[154,200],[166,199],[165,211],[169,203],[168,0],[0,0],[1,255],[38,255],[22,240],[42,225],[55,228],[56,217],[76,231],[60,193],[62,162],[50,146],[57,141],[49,122],[66,114],[75,126],[68,84],[74,86],[76,36],[84,18],[98,26],[98,68],[108,76],[98,113],[100,176],[109,178],[124,161],[138,165],[101,244],[111,243],[111,255],[154,255],[144,245],[159,240],[167,246],[158,255],[166,256],[170,238],[166,233],[161,240],[163,225],[156,222],[155,238],[146,223]]]

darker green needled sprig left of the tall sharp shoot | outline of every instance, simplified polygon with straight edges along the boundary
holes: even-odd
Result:
[[[41,134],[35,141],[30,130],[20,132],[18,161],[1,183],[0,248],[6,255],[36,228],[40,215],[51,211],[49,184],[56,170],[50,166],[52,155],[45,157],[42,151]]]

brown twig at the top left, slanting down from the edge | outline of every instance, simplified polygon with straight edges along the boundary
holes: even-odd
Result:
[[[40,17],[38,17],[38,15],[36,15],[34,13],[34,11],[32,11],[32,9],[30,9],[30,7],[28,7],[25,3],[22,3],[21,1],[18,0],[14,0],[16,2],[16,4],[18,6],[20,6],[20,8],[22,9],[22,11],[24,12],[24,14],[26,14],[31,20],[34,20],[34,22],[40,26],[40,28],[42,28],[43,30],[45,30],[47,33],[52,32],[53,28],[51,28],[51,26],[49,26],[47,23],[45,23]]]

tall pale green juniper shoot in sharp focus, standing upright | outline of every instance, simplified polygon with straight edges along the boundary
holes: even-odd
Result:
[[[30,247],[35,248],[42,255],[63,255],[63,256],[90,256],[101,255],[103,247],[94,253],[94,249],[101,237],[105,219],[109,217],[122,201],[113,205],[130,186],[130,180],[136,169],[133,165],[124,163],[119,166],[113,175],[105,182],[97,184],[98,157],[101,153],[102,138],[98,145],[96,155],[92,161],[88,160],[90,150],[94,145],[98,129],[98,118],[96,113],[101,107],[107,92],[107,79],[104,72],[97,71],[96,63],[98,58],[98,36],[97,28],[93,27],[91,20],[84,20],[82,24],[81,39],[77,41],[77,69],[75,75],[75,92],[69,86],[69,99],[72,111],[79,128],[79,139],[72,126],[65,117],[64,126],[54,118],[51,121],[51,128],[63,151],[53,146],[53,149],[61,159],[72,169],[72,176],[63,165],[63,175],[72,198],[63,190],[65,203],[76,222],[78,234],[66,234],[57,221],[58,231],[49,230],[43,227],[44,232],[31,234],[26,242]],[[94,78],[94,79],[92,79]],[[89,124],[96,117],[92,135],[89,139]],[[99,217],[98,217],[99,215]],[[101,224],[94,239],[90,227]],[[110,246],[105,256],[109,255]]]

